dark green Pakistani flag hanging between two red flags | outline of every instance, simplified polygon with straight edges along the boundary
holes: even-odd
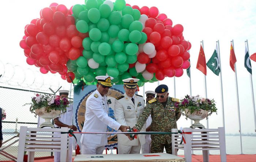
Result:
[[[219,72],[221,72],[221,69],[219,68],[219,57],[218,57],[218,53],[217,53],[217,46],[216,46],[211,58],[206,63],[206,65],[209,67],[209,69],[211,69],[211,71],[214,74],[219,76]]]

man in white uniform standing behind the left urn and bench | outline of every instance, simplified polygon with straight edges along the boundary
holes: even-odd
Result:
[[[64,97],[68,98],[69,90],[59,90],[59,93],[60,93],[60,99],[63,99]],[[77,128],[76,126],[73,125],[73,104],[70,104],[67,107],[67,112],[60,114],[60,117],[56,117],[55,119],[53,119],[53,121],[54,121],[55,128],[68,127],[76,131]],[[60,132],[54,132],[54,134],[60,134]],[[72,162],[73,138],[74,137],[69,138],[68,162]],[[54,152],[54,162],[60,162],[60,152]]]

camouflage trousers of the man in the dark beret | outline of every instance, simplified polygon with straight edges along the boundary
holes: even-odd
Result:
[[[167,154],[172,154],[172,143],[168,144],[167,140],[165,143],[159,143],[157,141],[151,141],[151,153],[163,153],[163,148],[165,147]]]

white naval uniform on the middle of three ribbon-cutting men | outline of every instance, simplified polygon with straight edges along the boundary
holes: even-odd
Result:
[[[124,96],[124,97],[123,97]],[[134,104],[132,102],[132,97],[129,97],[124,93],[121,96],[123,98],[118,97],[115,100],[115,109],[114,116],[118,123],[134,127],[137,123],[138,117],[142,114],[145,104],[143,97],[138,95],[133,95]],[[146,130],[146,124],[144,124],[141,131]],[[137,139],[133,139],[132,141],[127,138],[127,136],[123,134],[117,135],[118,139],[118,154],[139,154],[140,146],[145,143],[145,135],[138,135]],[[137,147],[138,146],[138,147]]]

